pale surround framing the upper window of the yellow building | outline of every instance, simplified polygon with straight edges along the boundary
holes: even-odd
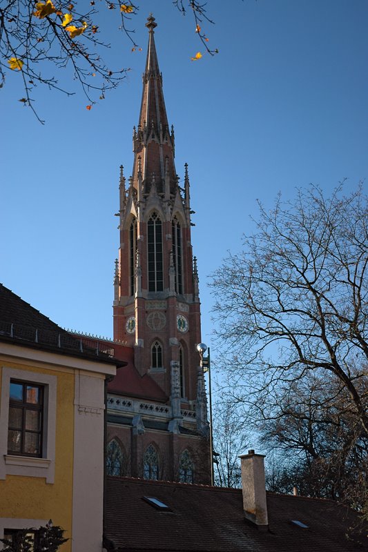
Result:
[[[6,475],[46,477],[46,483],[55,481],[55,433],[57,377],[17,368],[2,367],[0,403],[0,480]],[[42,457],[8,454],[10,380],[20,380],[43,386]],[[8,528],[10,529],[10,527]],[[17,528],[14,528],[17,529]],[[20,528],[21,529],[21,528]]]

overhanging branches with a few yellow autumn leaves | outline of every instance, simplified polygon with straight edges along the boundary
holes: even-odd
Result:
[[[175,0],[173,5],[193,15],[193,33],[210,55],[217,50],[209,48],[208,37],[201,25],[213,23],[206,13],[206,3],[197,0]],[[57,88],[70,94],[70,83],[59,83],[56,71],[72,68],[75,81],[81,85],[88,100],[88,109],[97,97],[104,99],[106,90],[115,88],[128,69],[108,67],[102,52],[108,48],[109,31],[99,23],[99,10],[115,10],[117,26],[130,40],[132,49],[138,47],[131,28],[132,18],[139,10],[137,3],[124,0],[99,3],[95,0],[3,0],[0,5],[0,87],[6,72],[19,72],[24,97],[19,99],[33,107],[32,92],[39,84]],[[200,59],[201,52],[193,59]],[[52,76],[46,76],[52,75]],[[97,96],[96,93],[97,92]],[[38,116],[37,116],[38,118]],[[39,119],[40,120],[40,119]],[[43,121],[41,121],[43,122]]]

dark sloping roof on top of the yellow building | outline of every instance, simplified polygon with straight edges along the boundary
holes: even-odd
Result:
[[[104,351],[82,346],[77,337],[52,322],[12,290],[0,284],[0,341],[52,351],[61,355],[124,366]]]

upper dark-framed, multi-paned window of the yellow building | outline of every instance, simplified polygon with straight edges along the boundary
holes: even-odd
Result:
[[[43,386],[10,380],[8,454],[42,456]]]

